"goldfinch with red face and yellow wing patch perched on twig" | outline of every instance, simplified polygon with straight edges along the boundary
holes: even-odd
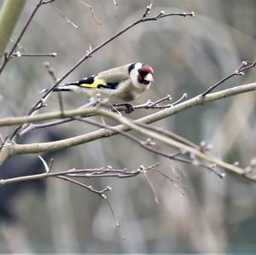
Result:
[[[101,98],[108,98],[110,102],[134,101],[148,90],[154,81],[153,74],[153,68],[147,64],[131,63],[63,84],[54,91],[74,91],[84,93],[90,98],[100,95]]]

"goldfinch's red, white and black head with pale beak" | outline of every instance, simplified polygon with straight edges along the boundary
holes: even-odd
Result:
[[[146,86],[146,88],[148,89],[151,82],[154,81],[154,69],[144,63],[132,63],[129,66],[129,74],[132,84],[134,84],[137,88],[143,89]]]

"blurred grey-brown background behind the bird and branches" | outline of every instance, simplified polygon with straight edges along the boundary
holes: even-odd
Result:
[[[20,42],[21,53],[51,53],[57,57],[14,58],[0,79],[0,116],[24,115],[40,98],[39,90],[52,84],[44,62],[49,61],[59,78],[84,55],[140,17],[144,0],[55,1],[41,7]],[[3,0],[0,1],[0,4]],[[17,38],[37,1],[27,1],[15,28]],[[154,67],[154,84],[140,101],[168,94],[177,100],[183,93],[193,97],[239,67],[255,61],[256,2],[253,0],[155,0],[151,14],[195,11],[195,17],[168,17],[132,28],[84,62],[66,82],[143,61]],[[68,23],[65,14],[79,28]],[[12,42],[9,43],[9,48]],[[254,82],[255,70],[230,79],[221,88]],[[84,103],[83,96],[63,94],[65,108]],[[44,111],[58,110],[52,95]],[[153,113],[140,110],[133,119]],[[172,130],[199,144],[212,144],[212,153],[230,163],[249,165],[256,152],[255,94],[247,93],[202,107],[194,107],[155,125]],[[12,128],[1,128],[8,134]],[[95,130],[73,123],[33,131],[20,142],[46,142]],[[171,152],[169,149],[168,152]],[[165,177],[150,172],[159,204],[143,177],[85,180],[95,188],[110,185],[108,198],[122,226],[120,232],[105,201],[96,194],[58,179],[21,183],[0,188],[0,252],[255,252],[256,185],[227,173],[219,180],[210,171],[162,159],[139,148],[125,137],[114,136],[69,148],[55,154],[53,171],[71,168],[135,170],[160,162],[170,177],[183,171],[185,194]],[[37,155],[7,160],[0,177],[44,171]],[[125,236],[125,241],[123,240]]]

